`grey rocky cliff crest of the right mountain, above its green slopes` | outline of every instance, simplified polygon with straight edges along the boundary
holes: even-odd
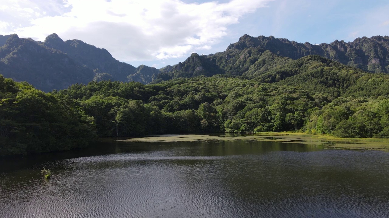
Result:
[[[244,50],[257,47],[291,59],[307,55],[320,55],[345,65],[358,67],[372,73],[388,73],[389,69],[389,36],[372,36],[357,38],[353,42],[335,40],[332,43],[312,45],[308,42],[298,43],[273,36],[256,38],[244,35],[237,43],[231,44],[228,50]]]

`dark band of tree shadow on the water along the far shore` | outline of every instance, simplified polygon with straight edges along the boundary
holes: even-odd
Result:
[[[190,151],[185,155],[189,156],[228,156],[262,154],[274,151],[295,151],[308,152],[323,149],[322,145],[305,145],[299,143],[263,142],[257,140],[219,141],[219,140],[198,140],[195,142],[118,142],[117,138],[105,138],[94,145],[84,149],[71,151],[48,152],[27,156],[4,157],[0,159],[0,173],[32,166],[44,165],[62,159],[73,159],[78,157],[101,156],[121,153],[142,153],[165,150],[173,147],[180,147],[182,150]],[[182,154],[179,154],[182,155]],[[43,167],[42,165],[42,167]]]

